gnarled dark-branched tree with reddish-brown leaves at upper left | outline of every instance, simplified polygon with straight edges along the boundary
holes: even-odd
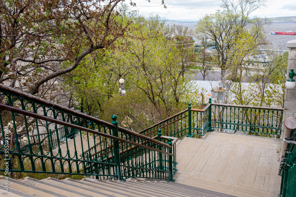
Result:
[[[1,1],[0,83],[36,94],[87,55],[114,47],[131,24],[115,10],[120,1]]]

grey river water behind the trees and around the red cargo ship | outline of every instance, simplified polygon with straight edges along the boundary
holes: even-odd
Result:
[[[183,26],[188,27],[189,29],[195,29],[195,24],[193,23],[183,23]],[[275,30],[278,32],[287,32],[287,31],[296,31],[296,23],[293,23],[293,21],[285,21],[285,22],[273,22],[269,26],[264,27],[265,35],[267,40],[269,40],[272,43],[272,47],[275,49],[282,49],[286,50],[285,45],[290,40],[296,40],[296,36],[294,35],[272,35],[271,31]],[[194,37],[195,38],[195,37]],[[195,38],[195,41],[197,42],[197,39]]]

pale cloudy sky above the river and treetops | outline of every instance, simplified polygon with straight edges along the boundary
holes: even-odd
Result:
[[[139,13],[144,16],[159,14],[168,20],[197,21],[205,14],[213,14],[219,9],[219,0],[165,0],[167,9],[161,5],[161,0],[133,0]],[[127,3],[127,1],[126,1]],[[295,0],[268,0],[266,7],[258,9],[252,15],[258,17],[288,17],[296,16]]]

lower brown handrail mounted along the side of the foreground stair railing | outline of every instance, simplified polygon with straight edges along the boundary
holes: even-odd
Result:
[[[96,135],[101,135],[103,137],[108,137],[108,138],[115,139],[115,140],[118,140],[118,141],[126,142],[128,144],[137,145],[137,146],[140,146],[140,147],[143,147],[143,148],[147,148],[147,149],[150,149],[150,150],[154,150],[154,151],[157,151],[157,152],[162,152],[164,154],[172,155],[173,156],[173,154],[171,154],[169,152],[165,152],[165,151],[162,151],[162,150],[157,150],[155,148],[144,146],[144,145],[138,144],[136,142],[128,141],[126,139],[122,139],[122,138],[115,137],[115,136],[112,136],[112,135],[109,135],[109,134],[106,134],[106,133],[102,133],[102,132],[98,132],[98,131],[95,131],[95,130],[91,130],[91,129],[88,129],[88,128],[85,128],[85,127],[81,127],[81,126],[78,126],[78,125],[75,125],[75,124],[70,124],[68,122],[63,122],[63,121],[60,121],[60,120],[57,120],[57,119],[53,119],[53,118],[50,118],[50,117],[47,117],[47,116],[42,116],[40,114],[35,114],[35,113],[30,112],[30,111],[25,111],[25,110],[18,109],[18,108],[15,108],[15,107],[11,107],[11,106],[8,106],[8,105],[0,104],[0,109],[4,109],[4,110],[8,110],[8,111],[13,111],[15,113],[23,114],[23,115],[26,115],[26,116],[31,116],[33,118],[37,118],[37,119],[41,119],[41,120],[53,122],[53,123],[56,123],[56,124],[61,124],[63,126],[72,127],[72,128],[75,128],[75,129],[78,129],[78,130],[81,130],[81,131],[86,131],[86,132],[93,133],[93,134],[96,134]],[[157,140],[155,140],[155,141],[157,141]],[[161,145],[161,144],[159,144],[159,145]],[[168,146],[170,147],[170,145],[168,145]]]

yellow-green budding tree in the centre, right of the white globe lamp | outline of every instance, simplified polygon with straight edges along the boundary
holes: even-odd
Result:
[[[135,37],[147,39],[125,40],[127,51],[123,56],[128,60],[129,83],[143,91],[156,109],[163,107],[168,116],[179,110],[187,67],[182,64],[184,51],[178,50],[175,41],[160,35],[158,29],[141,28]]]

